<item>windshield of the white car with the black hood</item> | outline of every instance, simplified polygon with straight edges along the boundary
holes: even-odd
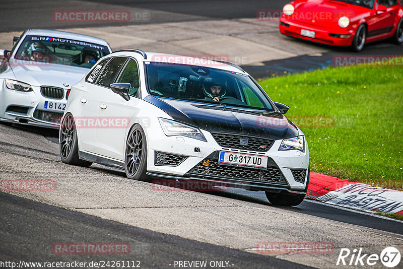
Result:
[[[147,63],[146,69],[154,96],[274,111],[260,88],[241,73],[160,62]]]

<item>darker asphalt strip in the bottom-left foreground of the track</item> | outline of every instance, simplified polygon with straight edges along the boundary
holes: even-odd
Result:
[[[152,232],[2,192],[0,214],[1,241],[8,242],[0,244],[0,260],[3,261],[129,260],[140,261],[141,268],[170,268],[175,260],[226,260],[231,268],[310,268],[270,256]],[[83,239],[86,242],[128,243],[130,254],[53,254],[52,245],[55,242]]]

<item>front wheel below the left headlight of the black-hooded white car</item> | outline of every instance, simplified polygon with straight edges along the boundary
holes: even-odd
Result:
[[[152,178],[147,173],[147,141],[143,128],[136,124],[129,132],[124,151],[126,177],[145,182]]]

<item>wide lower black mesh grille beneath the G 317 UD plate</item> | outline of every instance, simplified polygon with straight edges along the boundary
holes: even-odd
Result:
[[[273,159],[269,158],[268,164],[275,164]],[[257,181],[264,183],[273,183],[288,185],[280,168],[276,166],[267,166],[267,170],[219,165],[218,159],[205,159],[193,167],[187,175],[194,175],[201,178],[223,178],[235,180]]]

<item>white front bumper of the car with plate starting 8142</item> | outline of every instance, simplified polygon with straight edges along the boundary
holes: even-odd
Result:
[[[6,87],[5,80],[0,80],[0,120],[58,129],[64,111],[46,109],[45,102],[65,107],[65,98],[47,98],[41,94],[39,87],[32,86],[32,88],[32,92],[10,90]]]

